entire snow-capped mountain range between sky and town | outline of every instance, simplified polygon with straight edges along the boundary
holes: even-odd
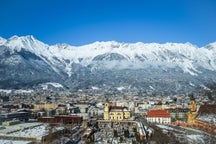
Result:
[[[0,87],[58,82],[69,88],[191,90],[216,81],[216,43],[95,42],[49,46],[33,36],[0,37]],[[158,88],[160,87],[160,88]],[[163,88],[162,88],[163,87]]]

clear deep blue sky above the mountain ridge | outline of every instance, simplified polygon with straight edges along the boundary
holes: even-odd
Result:
[[[215,0],[1,0],[0,36],[47,43],[216,41]]]

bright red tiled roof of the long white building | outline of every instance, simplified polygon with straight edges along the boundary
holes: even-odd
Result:
[[[147,112],[147,117],[169,118],[170,117],[170,112],[168,110],[149,110]]]

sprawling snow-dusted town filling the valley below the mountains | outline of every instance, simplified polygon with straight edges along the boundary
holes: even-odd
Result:
[[[1,91],[0,101],[0,143],[216,143],[216,103],[193,93]]]

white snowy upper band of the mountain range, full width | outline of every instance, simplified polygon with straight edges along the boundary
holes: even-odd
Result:
[[[185,73],[198,75],[199,68],[216,70],[216,43],[198,48],[190,43],[119,43],[116,41],[95,42],[84,46],[57,44],[49,46],[33,36],[13,36],[8,40],[0,38],[0,45],[13,51],[22,48],[41,57],[57,73],[65,72],[70,77],[72,64],[82,66],[147,68],[148,66],[166,68],[180,67]]]

